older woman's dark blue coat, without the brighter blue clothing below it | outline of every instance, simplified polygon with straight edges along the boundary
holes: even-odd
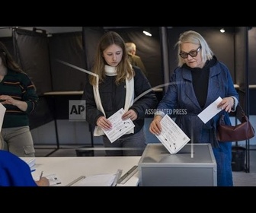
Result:
[[[223,63],[217,62],[210,68],[206,104],[203,109],[194,93],[191,71],[184,67],[176,68],[174,75],[171,76],[168,91],[159,103],[158,109],[171,109],[172,115],[176,116],[175,122],[188,137],[194,139],[194,143],[212,143],[214,146],[216,145],[216,122],[219,121],[222,112],[206,124],[197,115],[218,97],[229,96],[238,99],[229,69]],[[225,119],[226,124],[230,125],[229,113],[226,113]]]

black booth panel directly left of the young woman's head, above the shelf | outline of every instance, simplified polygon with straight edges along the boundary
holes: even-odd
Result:
[[[56,33],[50,37],[49,43],[53,91],[82,91],[85,84],[85,72],[58,61],[85,69],[82,32]]]

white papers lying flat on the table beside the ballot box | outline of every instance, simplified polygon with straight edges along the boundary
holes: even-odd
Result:
[[[79,176],[67,186],[116,186],[122,170],[117,173],[100,173],[91,176]]]

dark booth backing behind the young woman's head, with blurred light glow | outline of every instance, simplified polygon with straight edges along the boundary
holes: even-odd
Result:
[[[152,87],[163,83],[162,55],[159,27],[83,27],[85,54],[88,59],[87,68],[93,63],[95,46],[101,36],[108,30],[114,30],[123,37],[124,42],[136,44],[136,55],[140,56],[146,67]],[[152,37],[142,33],[149,30]]]

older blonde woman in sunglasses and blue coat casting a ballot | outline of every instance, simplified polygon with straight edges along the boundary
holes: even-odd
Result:
[[[216,125],[225,112],[226,125],[231,125],[229,113],[236,110],[238,93],[235,90],[229,68],[219,62],[206,40],[193,30],[181,33],[178,42],[178,68],[171,76],[168,91],[158,104],[149,131],[160,134],[160,121],[166,109],[182,109],[175,122],[193,143],[210,143],[217,164],[217,186],[233,186],[232,141],[216,139]],[[197,116],[222,98],[221,112],[204,122]],[[170,110],[169,110],[170,111]],[[184,113],[185,111],[185,113]]]

